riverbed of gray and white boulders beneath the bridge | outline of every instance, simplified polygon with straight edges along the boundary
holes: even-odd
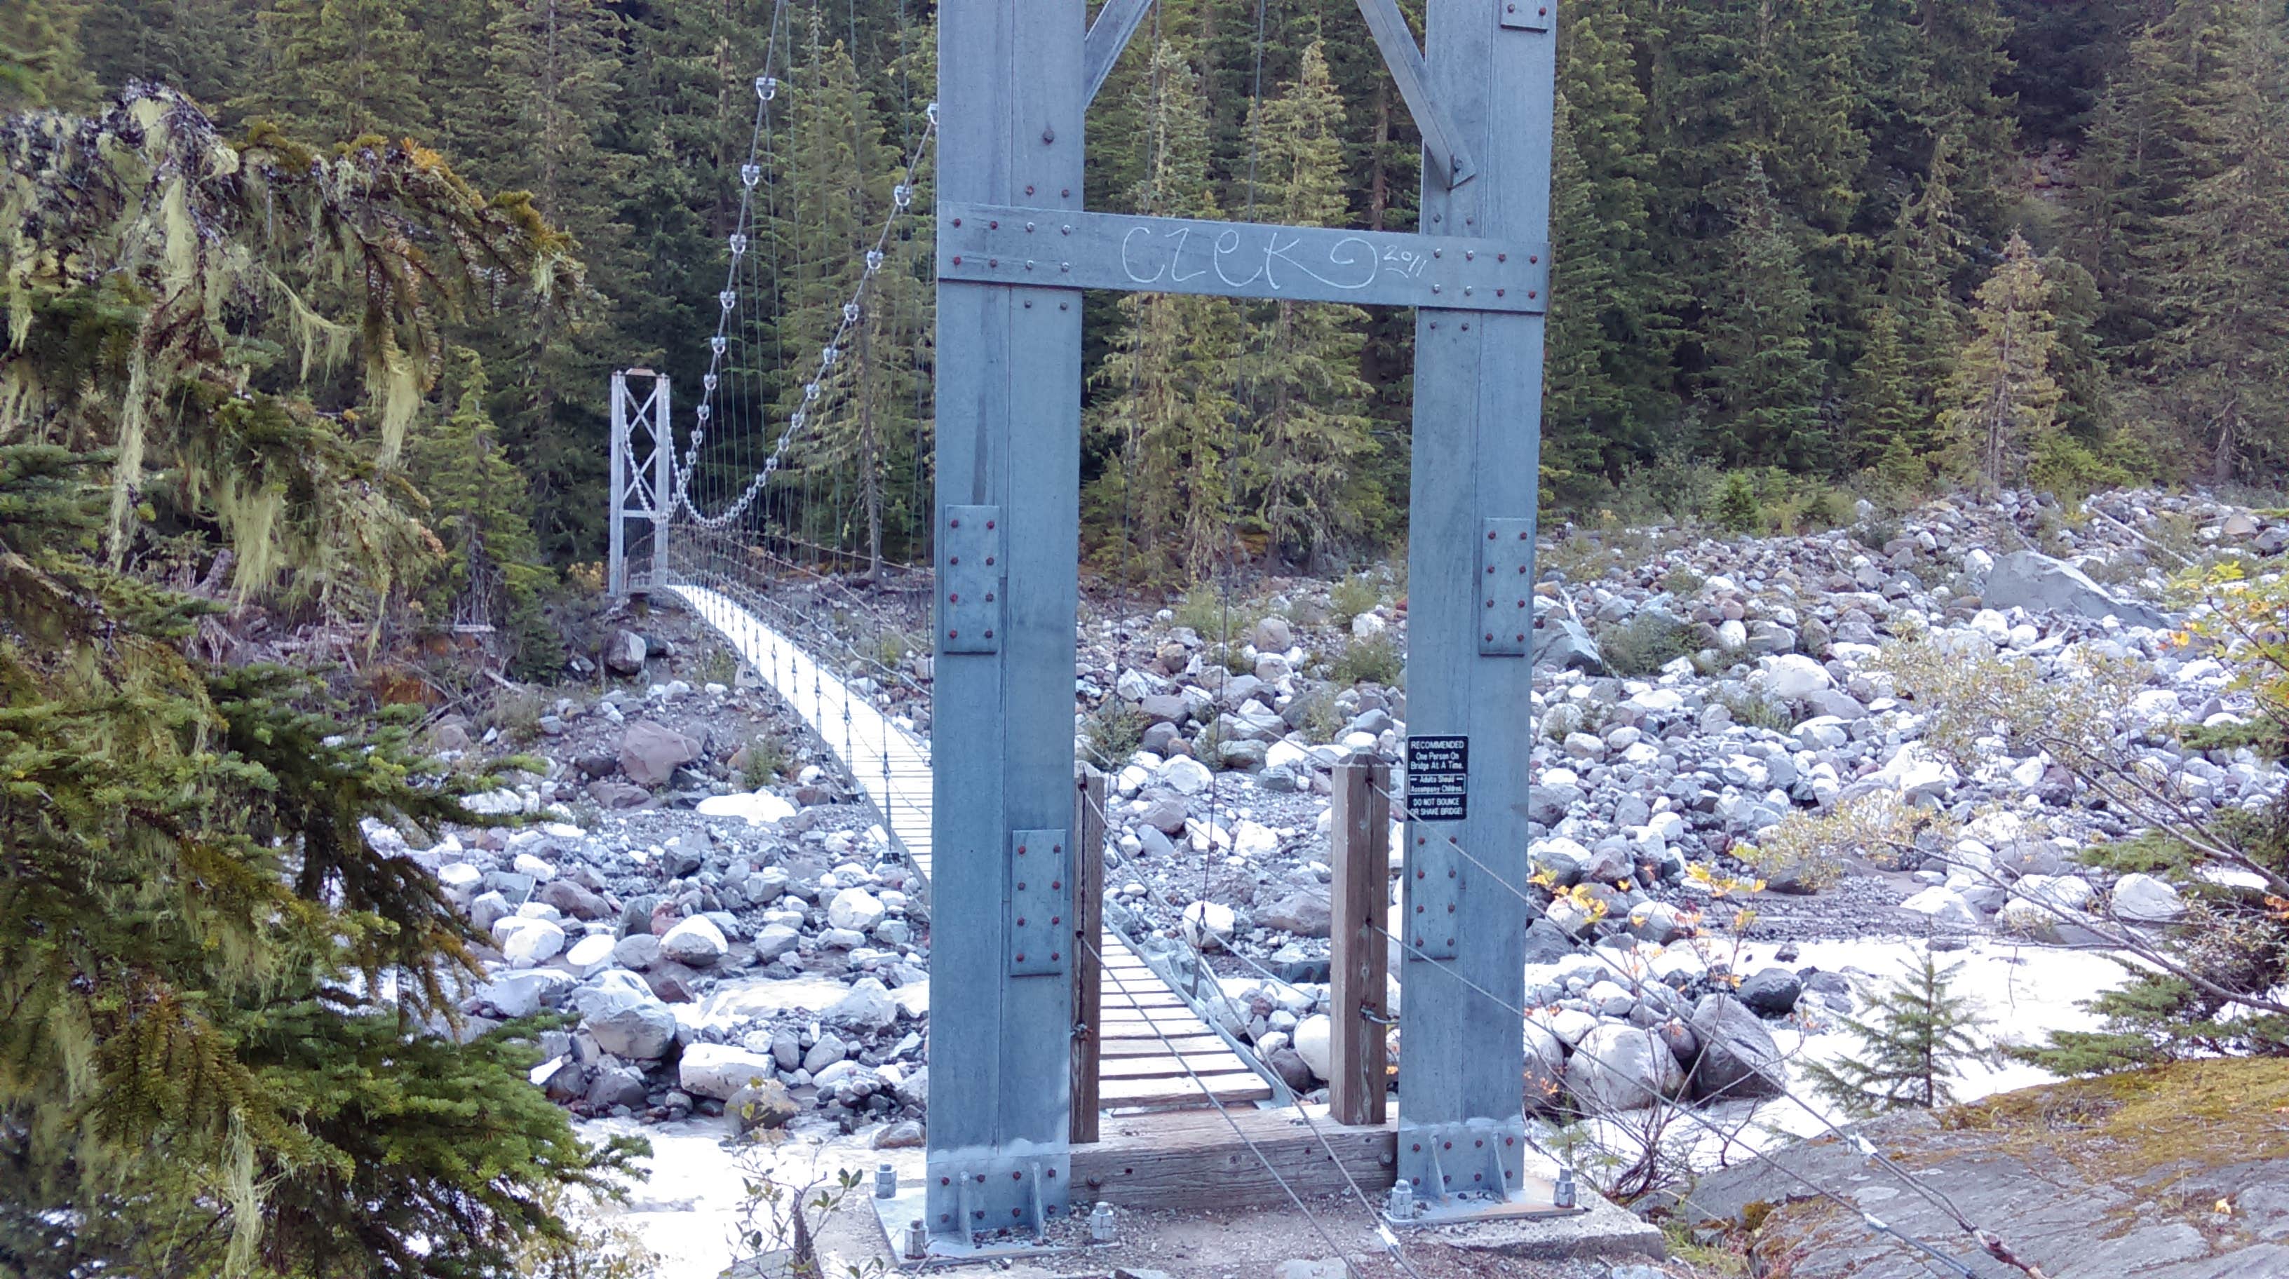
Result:
[[[1795,538],[1545,538],[1520,707],[1538,725],[1529,1096],[1627,1105],[1689,1087],[1756,1105],[1856,1007],[1845,970],[1898,966],[1888,943],[1987,954],[2062,940],[2078,913],[2175,917],[2161,881],[2074,858],[2131,833],[2120,812],[2039,753],[1948,766],[1882,654],[1927,636],[2019,654],[2046,680],[2131,664],[2126,739],[2186,803],[2252,803],[2280,769],[2179,744],[2248,702],[2179,643],[2165,583],[2220,558],[2278,572],[2284,547],[2289,522],[2168,494],[1939,503]],[[1330,766],[1373,753],[1403,778],[1403,583],[1264,579],[1161,611],[1119,588],[1087,599],[1076,748],[1110,773],[1115,915],[1147,952],[1206,963],[1211,1016],[1312,1096]],[[897,595],[884,625],[909,613]],[[881,645],[847,666],[927,737],[925,652]],[[529,824],[405,849],[490,940],[467,1025],[572,1014],[542,1034],[533,1078],[597,1121],[920,1142],[927,897],[831,746],[673,609],[609,618],[581,675],[517,716],[433,725],[449,757],[538,755],[478,799]],[[1403,780],[1394,794],[1403,805]],[[1833,881],[1758,865],[1781,824],[1870,796],[1946,815],[1946,847],[1845,856]],[[1403,1034],[1403,991],[1394,1007]],[[2067,1018],[2058,1004],[2039,1020]]]

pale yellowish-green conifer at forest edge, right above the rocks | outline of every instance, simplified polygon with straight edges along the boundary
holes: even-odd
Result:
[[[1998,490],[2019,483],[2033,451],[2058,426],[2051,281],[2023,236],[2012,233],[1996,272],[1980,286],[1971,327],[1941,394],[1939,423],[1957,467]]]

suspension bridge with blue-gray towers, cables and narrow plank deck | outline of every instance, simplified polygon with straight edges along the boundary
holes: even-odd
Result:
[[[1520,1027],[1488,1016],[1488,1000],[1515,1014],[1524,995],[1552,14],[1540,0],[1431,0],[1417,46],[1394,0],[1360,9],[1424,137],[1419,233],[1090,210],[1083,117],[1149,0],[1108,0],[1090,23],[1078,0],[948,0],[938,101],[897,172],[874,174],[888,208],[838,275],[849,293],[819,348],[785,350],[771,320],[794,302],[758,249],[762,217],[810,199],[771,162],[781,82],[767,64],[707,373],[682,412],[664,378],[613,378],[611,588],[680,597],[721,631],[842,753],[929,883],[938,1087],[929,1176],[897,1208],[918,1231],[909,1256],[964,1256],[1039,1236],[1074,1201],[1149,1199],[1147,1183],[1197,1197],[1254,1169],[1264,1194],[1296,1208],[1298,1185],[1348,1190],[1364,1208],[1396,1181],[1440,1220],[1563,1210],[1527,1162]],[[774,16],[771,57],[778,27]],[[858,389],[904,341],[886,320],[925,275],[936,334],[904,366],[927,364],[929,403],[911,414],[900,503],[886,492],[893,419]],[[1305,1137],[1264,1123],[1252,1105],[1289,1103],[1286,1089],[1188,1000],[1206,961],[1149,963],[1099,924],[1103,783],[1076,771],[1074,732],[1092,288],[1417,318],[1408,677],[1410,723],[1435,739],[1415,739],[1410,757],[1435,755],[1460,785],[1437,812],[1408,815],[1405,929],[1389,924],[1383,863],[1339,890],[1357,915],[1337,929],[1339,961],[1376,961],[1337,977],[1337,998],[1360,1004],[1337,1009],[1357,1066],[1337,1089],[1348,1123],[1305,1119]],[[927,567],[884,554],[893,519]],[[918,654],[884,643],[897,602],[927,627],[927,680]],[[916,709],[927,744],[900,723]],[[1369,1023],[1385,943],[1405,954],[1408,988],[1396,1123]],[[1367,1034],[1378,1048],[1355,1052]]]

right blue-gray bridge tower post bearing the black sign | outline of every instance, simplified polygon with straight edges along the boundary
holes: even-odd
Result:
[[[1547,243],[1557,34],[1543,0],[1499,9],[1428,0],[1479,176],[1424,181],[1421,233]],[[1467,739],[1465,817],[1405,826],[1399,1174],[1428,1201],[1520,1185],[1524,904],[1454,849],[1524,888],[1540,389],[1543,316],[1417,311],[1408,734]]]

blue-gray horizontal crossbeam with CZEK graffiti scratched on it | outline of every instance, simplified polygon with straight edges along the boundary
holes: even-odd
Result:
[[[1550,247],[941,201],[938,279],[1540,313]]]

